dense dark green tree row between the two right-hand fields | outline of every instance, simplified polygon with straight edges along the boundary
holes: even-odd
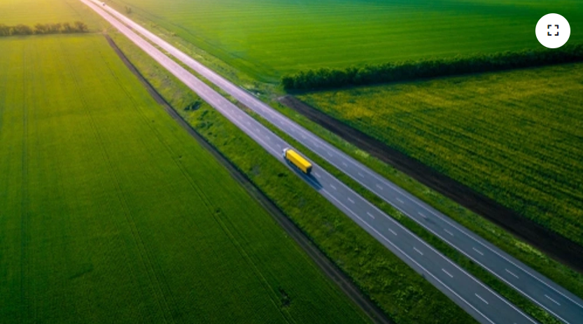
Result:
[[[564,45],[554,50],[545,48],[362,67],[351,66],[346,69],[323,68],[300,71],[293,75],[283,76],[281,84],[286,90],[321,90],[577,61],[583,61],[583,43]]]

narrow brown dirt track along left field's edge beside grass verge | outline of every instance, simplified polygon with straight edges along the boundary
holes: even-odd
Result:
[[[202,147],[213,155],[216,160],[223,164],[225,168],[229,171],[230,175],[239,183],[245,190],[263,206],[272,216],[272,218],[278,223],[286,233],[296,241],[296,243],[309,255],[309,257],[314,260],[316,265],[326,274],[332,281],[334,281],[340,289],[356,304],[360,309],[364,311],[365,314],[370,318],[372,323],[376,324],[394,324],[390,318],[386,316],[384,311],[380,309],[377,304],[372,302],[369,297],[364,295],[360,289],[352,282],[349,276],[346,276],[341,269],[339,269],[334,262],[332,262],[328,257],[320,251],[320,249],[314,244],[314,242],[309,239],[309,237],[293,223],[290,218],[288,218],[281,209],[279,209],[267,196],[261,192],[255,185],[251,182],[247,176],[237,169],[237,166],[232,164],[222,153],[220,153],[211,143],[206,141],[204,137],[200,136],[195,129],[190,127],[188,122],[183,120],[183,118],[174,111],[174,108],[160,95],[152,85],[144,78],[141,73],[136,69],[134,64],[127,59],[125,54],[118,48],[113,39],[110,36],[105,35],[109,45],[115,50],[122,61],[125,63],[127,68],[134,73],[134,75],[139,78],[140,82],[146,87],[148,93],[155,99],[155,101],[164,107],[166,111],[178,125],[183,127],[183,129],[190,134]]]

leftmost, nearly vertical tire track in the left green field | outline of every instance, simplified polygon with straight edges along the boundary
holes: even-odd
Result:
[[[27,69],[29,59],[27,55],[27,44],[22,45],[22,157],[20,160],[20,171],[22,172],[21,185],[21,200],[20,200],[20,307],[21,316],[20,323],[27,321],[26,316],[30,314],[29,304],[29,288],[30,288],[30,265],[28,262],[28,245],[29,245],[29,212],[28,212],[28,104],[29,96],[27,96],[28,77]]]

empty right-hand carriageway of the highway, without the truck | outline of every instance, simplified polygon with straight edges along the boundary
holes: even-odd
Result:
[[[573,293],[542,276],[542,274],[535,272],[535,270],[524,265],[519,260],[422,202],[421,199],[402,190],[398,185],[388,181],[349,155],[346,155],[346,153],[297,125],[285,115],[241,89],[241,87],[230,83],[214,71],[192,59],[192,57],[155,36],[139,24],[129,20],[125,15],[109,7],[106,7],[106,10],[118,17],[127,26],[148,38],[148,40],[169,52],[186,66],[211,81],[211,83],[232,95],[241,104],[251,108],[262,118],[279,127],[283,132],[286,132],[293,139],[353,178],[360,185],[374,192],[385,202],[415,220],[426,230],[440,237],[447,244],[484,267],[498,279],[512,286],[512,288],[528,297],[535,304],[546,309],[564,323],[583,323],[583,300],[573,295]]]

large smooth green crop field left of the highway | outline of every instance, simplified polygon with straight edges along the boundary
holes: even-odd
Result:
[[[103,36],[0,38],[1,323],[362,323]]]

